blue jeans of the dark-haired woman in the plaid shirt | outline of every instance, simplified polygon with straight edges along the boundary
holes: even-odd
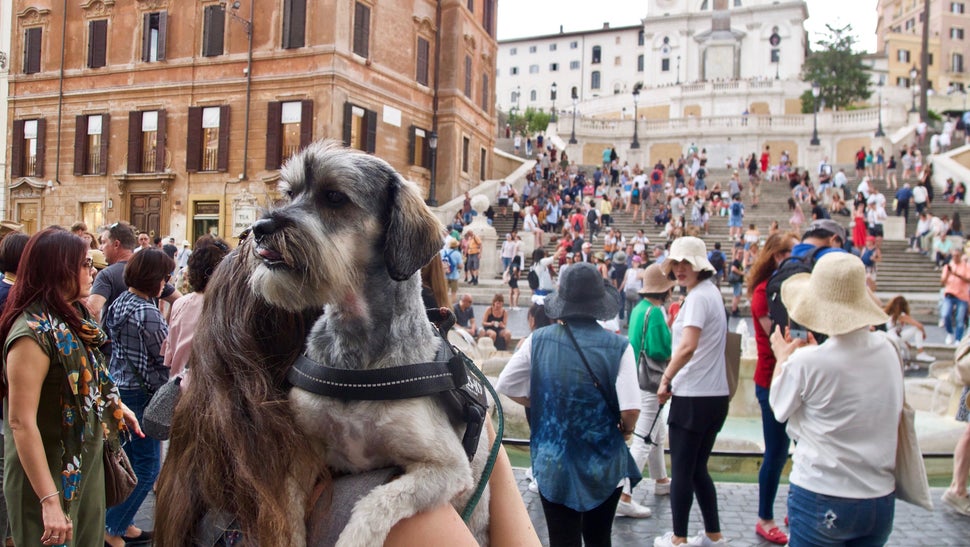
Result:
[[[145,407],[150,397],[141,388],[121,389],[121,400],[135,413],[140,422],[144,418]],[[131,467],[138,477],[138,485],[128,499],[120,505],[108,509],[105,515],[105,528],[112,536],[123,536],[128,527],[134,524],[135,514],[143,501],[152,491],[161,467],[160,443],[151,437],[143,439],[132,435],[124,445],[125,453],[131,460]]]

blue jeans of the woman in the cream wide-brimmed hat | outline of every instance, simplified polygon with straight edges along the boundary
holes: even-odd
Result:
[[[895,492],[881,498],[837,498],[792,484],[788,489],[788,545],[885,545],[893,531],[895,511]]]

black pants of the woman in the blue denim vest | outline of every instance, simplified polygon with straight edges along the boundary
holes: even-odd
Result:
[[[541,487],[540,487],[541,488]],[[622,488],[589,511],[574,511],[565,505],[553,503],[542,496],[542,512],[549,529],[549,547],[610,547],[613,534],[613,516],[620,501]]]

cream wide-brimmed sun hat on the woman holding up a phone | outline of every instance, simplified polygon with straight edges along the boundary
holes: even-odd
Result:
[[[826,253],[812,273],[781,285],[788,316],[809,330],[833,336],[889,320],[866,290],[866,268],[849,253]]]

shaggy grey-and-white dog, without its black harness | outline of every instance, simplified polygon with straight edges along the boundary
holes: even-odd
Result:
[[[280,188],[288,203],[253,225],[249,283],[276,306],[324,307],[307,357],[353,370],[432,361],[442,339],[425,314],[417,272],[436,257],[443,229],[417,188],[386,162],[327,142],[289,160]],[[461,446],[464,426],[449,420],[436,397],[343,401],[294,387],[289,398],[320,466],[405,471],[357,503],[338,546],[381,545],[399,520],[448,501],[460,511],[481,474],[487,435],[473,470]],[[297,470],[294,518],[302,519],[307,484],[319,472]],[[487,510],[485,495],[469,523],[482,543]],[[305,535],[292,541],[305,543]]]

